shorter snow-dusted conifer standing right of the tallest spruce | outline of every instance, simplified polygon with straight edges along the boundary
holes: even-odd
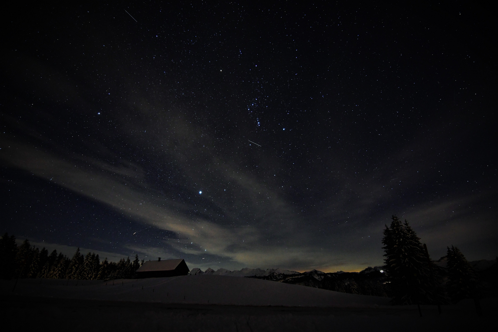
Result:
[[[477,277],[464,254],[453,245],[447,253],[448,282],[446,288],[453,303],[477,295]]]

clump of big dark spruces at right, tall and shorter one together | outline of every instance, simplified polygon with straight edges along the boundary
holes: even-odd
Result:
[[[392,216],[384,229],[382,249],[385,270],[393,299],[397,305],[456,303],[462,299],[479,299],[479,280],[472,265],[455,246],[447,247],[447,266],[443,269],[430,259],[427,247],[420,242],[408,221]]]

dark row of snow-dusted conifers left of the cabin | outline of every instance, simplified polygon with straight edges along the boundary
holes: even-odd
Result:
[[[53,279],[131,279],[135,271],[143,264],[138,255],[131,261],[120,259],[109,262],[107,257],[100,261],[99,255],[89,252],[86,255],[76,250],[72,258],[62,252],[53,250],[50,254],[46,248],[35,248],[25,239],[17,245],[14,235],[5,233],[0,238],[0,278],[53,278]]]

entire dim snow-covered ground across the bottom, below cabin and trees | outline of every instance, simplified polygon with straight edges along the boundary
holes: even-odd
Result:
[[[115,280],[0,281],[4,331],[494,331],[496,299],[390,306],[382,297],[201,274]],[[3,331],[2,330],[2,331]]]

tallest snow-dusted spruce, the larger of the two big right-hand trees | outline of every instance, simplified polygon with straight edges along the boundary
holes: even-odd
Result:
[[[390,228],[385,226],[382,243],[389,281],[394,291],[394,304],[432,302],[431,274],[420,238],[405,221],[392,216]]]

